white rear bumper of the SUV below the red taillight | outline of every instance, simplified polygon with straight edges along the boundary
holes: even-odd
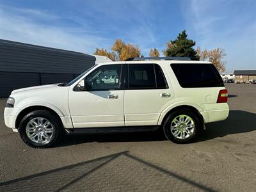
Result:
[[[205,124],[211,123],[211,122],[218,122],[225,120],[228,117],[229,114],[229,108],[228,104],[215,104],[220,105],[221,109],[213,109],[213,110],[205,110],[200,111],[201,115],[204,118]]]

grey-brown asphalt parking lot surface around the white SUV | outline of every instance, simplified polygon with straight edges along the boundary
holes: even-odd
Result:
[[[35,149],[5,127],[0,191],[256,191],[256,86],[226,84],[230,115],[193,143],[163,133],[68,136]]]

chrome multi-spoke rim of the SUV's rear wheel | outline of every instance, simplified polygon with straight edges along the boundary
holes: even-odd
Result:
[[[189,138],[195,131],[195,123],[188,115],[176,116],[171,123],[171,132],[179,140]]]

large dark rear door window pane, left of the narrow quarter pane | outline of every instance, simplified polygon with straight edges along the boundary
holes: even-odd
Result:
[[[129,88],[156,88],[154,65],[129,65]]]

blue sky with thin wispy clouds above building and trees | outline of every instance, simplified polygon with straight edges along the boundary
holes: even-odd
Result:
[[[225,49],[227,72],[256,69],[256,1],[0,0],[0,38],[88,54],[121,38],[148,56],[184,29]]]

